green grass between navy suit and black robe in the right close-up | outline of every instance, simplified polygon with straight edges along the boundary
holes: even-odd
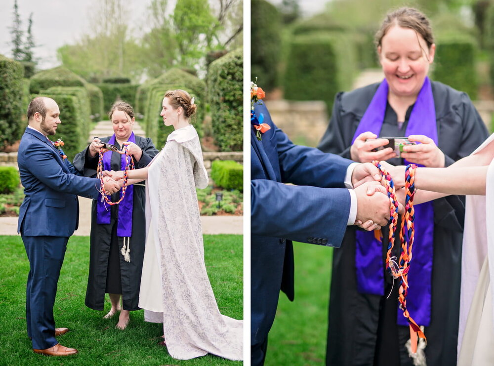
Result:
[[[294,243],[295,301],[280,292],[266,366],[325,365],[332,248]]]

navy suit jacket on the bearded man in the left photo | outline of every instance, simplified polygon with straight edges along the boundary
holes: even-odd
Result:
[[[79,221],[77,195],[98,198],[100,180],[79,176],[68,159],[39,131],[27,127],[17,164],[26,197],[17,232],[25,236],[70,237]]]

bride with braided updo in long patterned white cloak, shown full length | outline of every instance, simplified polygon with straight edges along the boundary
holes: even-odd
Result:
[[[196,109],[186,91],[167,91],[161,116],[175,130],[147,167],[128,172],[129,183],[147,179],[139,307],[145,321],[163,323],[171,357],[188,360],[211,353],[240,361],[243,321],[220,314],[204,263],[196,187],[206,188],[208,178],[199,137],[189,124]]]

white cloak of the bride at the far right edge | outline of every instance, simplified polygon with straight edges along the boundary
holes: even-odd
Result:
[[[494,140],[491,135],[472,154]],[[461,260],[458,366],[494,365],[494,159],[486,196],[467,196]],[[447,299],[445,299],[447,301]]]

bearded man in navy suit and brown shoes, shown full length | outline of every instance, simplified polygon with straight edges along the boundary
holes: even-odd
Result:
[[[29,125],[22,136],[17,154],[24,201],[19,209],[20,232],[29,259],[26,288],[26,322],[33,351],[50,356],[67,356],[76,349],[62,346],[55,336],[67,328],[56,328],[53,305],[58,277],[69,237],[77,229],[77,195],[97,199],[100,180],[79,176],[48,139],[61,123],[60,110],[53,99],[34,98],[29,104]],[[120,189],[105,178],[104,190]]]

